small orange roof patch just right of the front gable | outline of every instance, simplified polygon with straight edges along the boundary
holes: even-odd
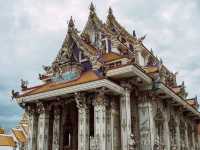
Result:
[[[104,54],[101,58],[99,58],[99,61],[103,61],[103,62],[111,62],[117,59],[122,59],[125,58],[124,56],[114,53],[114,52],[109,52]]]

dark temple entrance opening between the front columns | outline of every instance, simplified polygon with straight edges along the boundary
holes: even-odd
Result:
[[[78,149],[78,109],[75,102],[64,107],[63,150]]]

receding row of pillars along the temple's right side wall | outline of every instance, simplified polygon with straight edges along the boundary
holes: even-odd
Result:
[[[180,114],[179,111],[173,111],[172,106],[163,108],[162,102],[149,100],[148,98],[150,97],[140,97],[140,103],[138,104],[140,118],[140,148],[142,150],[199,149],[199,141],[194,141],[194,129],[197,127],[197,124],[192,122],[192,120],[190,120],[190,122],[188,119],[186,119],[186,116]],[[173,115],[171,113],[172,111]],[[173,124],[171,124],[172,122],[169,124],[169,122],[172,121],[170,119],[173,120]],[[156,125],[158,124],[158,121],[160,122],[159,126]],[[191,126],[188,127],[189,122],[191,123]],[[175,137],[173,138],[175,139],[172,139],[173,133],[170,132],[170,128],[172,127],[175,134]],[[190,134],[190,136],[188,136],[188,134]],[[191,141],[190,144],[189,141]]]

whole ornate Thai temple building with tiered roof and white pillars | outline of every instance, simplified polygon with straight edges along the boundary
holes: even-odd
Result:
[[[70,19],[42,84],[12,91],[28,115],[28,150],[199,150],[197,98],[111,8],[105,23],[89,11],[81,33]]]

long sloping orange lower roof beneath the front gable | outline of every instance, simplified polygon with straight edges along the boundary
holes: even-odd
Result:
[[[78,79],[71,80],[71,81],[47,83],[47,84],[44,84],[44,85],[40,86],[39,88],[36,88],[30,92],[22,94],[19,97],[53,91],[56,89],[61,89],[61,88],[65,88],[65,87],[69,87],[69,86],[73,86],[73,85],[77,85],[77,84],[83,84],[83,83],[87,83],[87,82],[91,82],[91,81],[95,81],[95,80],[99,80],[99,79],[102,79],[102,77],[99,77],[94,71],[88,71],[88,72],[82,73],[82,75]]]

